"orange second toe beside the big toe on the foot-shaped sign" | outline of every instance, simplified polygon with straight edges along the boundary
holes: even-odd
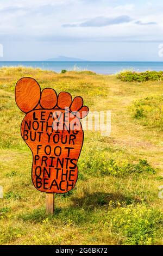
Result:
[[[42,108],[51,109],[57,105],[57,93],[52,88],[42,90],[40,105]]]

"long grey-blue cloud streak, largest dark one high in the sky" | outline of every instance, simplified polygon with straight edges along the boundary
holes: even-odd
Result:
[[[129,16],[122,15],[115,18],[108,18],[108,17],[95,17],[88,21],[76,24],[64,24],[63,27],[105,27],[110,25],[117,25],[121,23],[128,23],[132,21]]]

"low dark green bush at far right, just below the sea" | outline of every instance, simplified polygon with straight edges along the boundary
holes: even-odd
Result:
[[[135,72],[135,71],[122,71],[117,75],[117,79],[124,82],[146,82],[146,81],[162,81],[163,71],[145,71],[145,72]]]

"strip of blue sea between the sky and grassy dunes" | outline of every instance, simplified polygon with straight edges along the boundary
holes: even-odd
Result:
[[[91,70],[97,74],[116,74],[121,70],[163,70],[163,62],[0,62],[1,66],[32,66],[60,72],[66,70]]]

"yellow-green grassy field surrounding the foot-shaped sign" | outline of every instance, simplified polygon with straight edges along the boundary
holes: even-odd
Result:
[[[46,216],[45,193],[32,184],[32,153],[20,134],[24,114],[14,90],[24,76],[41,89],[82,96],[91,111],[111,110],[109,137],[85,131],[76,187],[55,197],[53,216]],[[0,244],[162,245],[162,95],[163,81],[1,68]]]

